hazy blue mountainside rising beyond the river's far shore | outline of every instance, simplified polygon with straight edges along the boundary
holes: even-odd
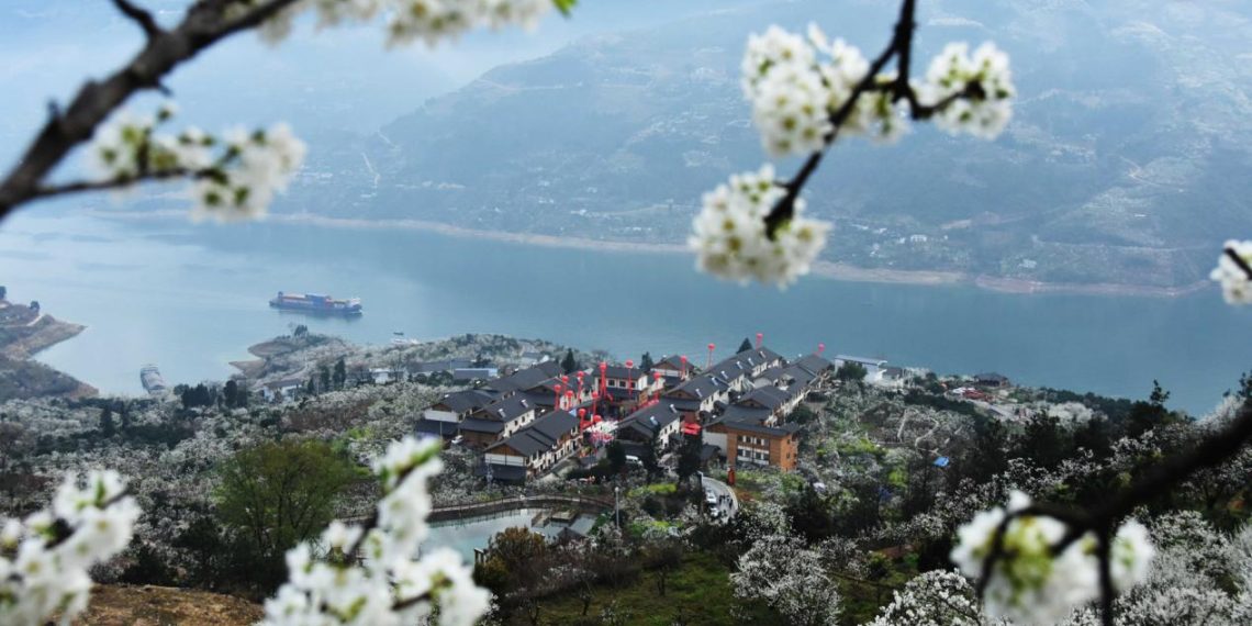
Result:
[[[280,210],[679,242],[704,190],[764,160],[737,86],[746,35],[816,19],[874,54],[895,8],[769,3],[497,68],[327,146]],[[1247,230],[1247,5],[923,8],[915,73],[945,41],[993,39],[1013,56],[1017,118],[995,143],[925,126],[894,148],[840,146],[810,193],[838,224],[830,259],[1168,287],[1202,280]]]

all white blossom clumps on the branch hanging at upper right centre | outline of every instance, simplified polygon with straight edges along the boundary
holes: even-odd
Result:
[[[775,158],[816,154],[838,135],[894,141],[909,130],[913,93],[918,101],[938,106],[936,123],[953,133],[994,138],[1012,116],[1015,90],[1008,56],[993,44],[983,44],[973,58],[965,44],[949,45],[930,64],[924,83],[909,83],[908,98],[896,73],[870,76],[870,69],[860,50],[841,39],[831,41],[813,24],[804,36],[776,25],[750,35],[740,86],[765,151]],[[800,217],[803,203],[795,199],[794,217],[766,237],[764,219],[785,197],[767,165],[705,194],[689,239],[696,267],[741,283],[780,285],[808,273],[830,225]]]

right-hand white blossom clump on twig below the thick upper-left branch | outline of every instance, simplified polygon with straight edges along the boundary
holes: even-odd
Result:
[[[193,219],[233,222],[264,217],[274,194],[287,190],[292,175],[304,163],[304,143],[287,124],[254,133],[232,130],[225,135],[225,146],[224,164],[193,185]]]

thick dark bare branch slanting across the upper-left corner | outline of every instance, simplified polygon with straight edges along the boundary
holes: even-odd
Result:
[[[126,65],[103,80],[88,80],[64,111],[50,111],[49,120],[16,165],[0,179],[0,219],[19,205],[48,195],[41,190],[48,189],[44,180],[53,169],[70,150],[90,140],[96,126],[131,95],[149,89],[163,90],[162,80],[175,68],[294,3],[268,0],[248,9],[235,0],[200,0],[188,9],[177,28],[158,29]]]

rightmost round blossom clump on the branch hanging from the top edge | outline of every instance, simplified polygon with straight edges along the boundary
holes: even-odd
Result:
[[[977,85],[977,93],[968,91],[970,85]],[[963,98],[935,113],[935,125],[953,134],[969,133],[984,139],[994,139],[1004,130],[1017,95],[1009,56],[992,43],[978,46],[973,58],[968,44],[948,44],[930,61],[919,91],[930,104],[964,91]]]

